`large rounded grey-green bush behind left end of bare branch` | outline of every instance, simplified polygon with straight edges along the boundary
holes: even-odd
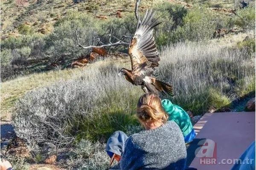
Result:
[[[46,53],[52,61],[68,60],[85,55],[91,49],[77,46],[74,30],[78,29],[80,43],[84,46],[93,44],[93,37],[98,37],[100,29],[92,16],[81,12],[69,11],[67,16],[55,23],[53,32],[46,38]]]

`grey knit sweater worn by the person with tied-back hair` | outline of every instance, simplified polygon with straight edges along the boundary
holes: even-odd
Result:
[[[185,164],[184,137],[173,121],[131,135],[120,160],[121,170],[183,170]]]

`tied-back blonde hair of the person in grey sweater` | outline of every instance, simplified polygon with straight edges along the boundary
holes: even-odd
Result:
[[[157,122],[166,123],[168,115],[162,107],[160,98],[154,93],[147,93],[140,97],[137,104],[137,118],[142,122]]]

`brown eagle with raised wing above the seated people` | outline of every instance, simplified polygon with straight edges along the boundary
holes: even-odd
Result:
[[[125,75],[125,79],[136,86],[141,86],[145,93],[157,90],[163,95],[172,95],[172,86],[153,78],[154,67],[159,66],[160,57],[153,37],[153,29],[160,22],[154,19],[152,10],[146,11],[143,20],[136,29],[131,39],[128,53],[131,58],[131,70],[121,69],[119,76]]]

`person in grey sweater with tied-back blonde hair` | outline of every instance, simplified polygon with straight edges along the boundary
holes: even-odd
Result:
[[[121,170],[184,170],[186,146],[179,126],[167,121],[160,98],[141,96],[137,118],[145,130],[129,136],[119,161]]]

